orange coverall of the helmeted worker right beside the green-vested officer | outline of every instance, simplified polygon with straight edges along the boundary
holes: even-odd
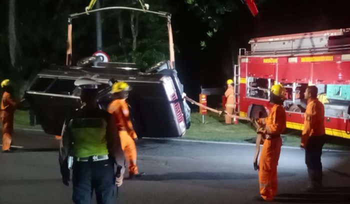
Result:
[[[126,159],[129,160],[129,173],[137,174],[136,165],[136,145],[134,139],[137,138],[129,118],[129,108],[125,99],[115,99],[108,105],[108,112],[111,113],[118,127],[121,148]]]

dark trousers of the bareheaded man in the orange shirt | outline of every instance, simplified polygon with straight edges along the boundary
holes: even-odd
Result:
[[[312,184],[322,183],[322,147],[325,142],[325,135],[310,136],[305,148],[305,163],[308,177]]]

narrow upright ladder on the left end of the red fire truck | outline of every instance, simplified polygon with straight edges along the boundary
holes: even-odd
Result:
[[[238,64],[233,64],[233,88],[234,88],[234,114],[239,115],[240,112],[240,54],[245,48],[239,48]]]

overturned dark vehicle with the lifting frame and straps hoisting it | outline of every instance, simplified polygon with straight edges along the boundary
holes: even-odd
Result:
[[[60,135],[66,116],[81,106],[80,90],[74,85],[78,78],[91,78],[101,83],[98,92],[98,105],[106,109],[112,100],[111,81],[125,81],[131,87],[127,98],[131,121],[139,137],[178,137],[190,125],[190,109],[183,99],[183,86],[174,67],[174,51],[170,14],[136,8],[107,7],[95,11],[131,9],[156,14],[166,18],[169,59],[140,71],[137,64],[108,62],[100,56],[89,56],[71,65],[71,22],[73,18],[86,15],[69,15],[66,65],[50,65],[42,69],[25,91],[43,130],[48,134]]]

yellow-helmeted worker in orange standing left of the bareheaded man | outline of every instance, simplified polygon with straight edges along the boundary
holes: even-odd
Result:
[[[259,199],[271,201],[277,194],[277,165],[282,140],[280,134],[286,126],[283,101],[285,89],[281,84],[275,84],[270,90],[272,107],[263,120],[259,120],[257,133],[264,138],[259,165],[254,162],[254,168],[259,169]]]

